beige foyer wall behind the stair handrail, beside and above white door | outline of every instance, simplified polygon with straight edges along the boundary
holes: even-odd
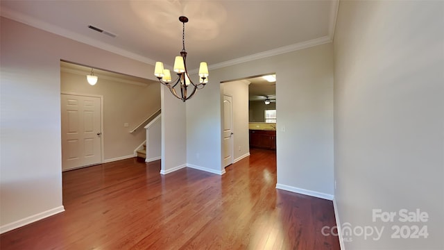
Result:
[[[103,159],[106,162],[133,156],[134,150],[146,140],[146,131],[143,126],[134,133],[129,131],[160,109],[160,83],[140,78],[101,77],[95,73],[99,81],[91,86],[85,79],[86,74],[88,72],[74,74],[62,69],[60,91],[103,96]],[[139,84],[126,83],[126,80]],[[128,127],[124,127],[124,123],[128,123]]]

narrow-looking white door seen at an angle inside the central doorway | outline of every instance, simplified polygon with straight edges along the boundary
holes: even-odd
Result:
[[[233,163],[232,97],[223,95],[223,167]]]

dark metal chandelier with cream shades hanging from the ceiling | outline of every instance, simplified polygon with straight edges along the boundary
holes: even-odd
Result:
[[[187,101],[196,94],[196,90],[203,89],[208,82],[208,66],[207,63],[201,62],[199,67],[199,83],[195,84],[189,78],[187,70],[187,51],[185,51],[185,23],[188,22],[187,17],[179,17],[179,21],[183,24],[182,29],[182,51],[180,56],[176,56],[174,60],[173,71],[178,74],[178,78],[171,82],[171,72],[169,69],[164,69],[162,62],[156,62],[154,68],[154,75],[159,79],[160,83],[166,85],[171,93],[181,99],[183,102]],[[176,86],[180,88],[180,94],[176,90]],[[192,88],[189,90],[189,88]],[[189,92],[191,91],[191,92]]]

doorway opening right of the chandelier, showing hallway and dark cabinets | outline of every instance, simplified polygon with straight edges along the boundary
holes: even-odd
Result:
[[[273,79],[268,78],[270,76]],[[223,81],[221,89],[224,96],[223,167],[250,156],[250,149],[275,153],[278,122],[275,74]],[[226,101],[225,96],[230,96],[231,101]],[[231,113],[228,110],[232,110]],[[228,126],[230,122],[232,127]],[[232,146],[227,143],[230,141]]]

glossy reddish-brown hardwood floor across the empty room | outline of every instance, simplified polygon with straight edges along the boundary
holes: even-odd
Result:
[[[219,176],[119,160],[63,173],[65,212],[0,235],[6,249],[340,249],[332,201],[276,190],[275,151]]]

